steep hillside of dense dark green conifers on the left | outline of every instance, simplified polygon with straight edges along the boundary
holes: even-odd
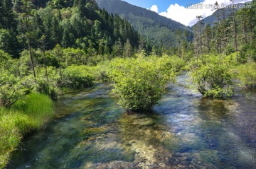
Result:
[[[137,31],[95,1],[4,0],[0,8],[0,49],[13,57],[28,45],[46,51],[60,44],[82,49],[88,56],[121,52],[117,48],[124,43],[139,47]]]

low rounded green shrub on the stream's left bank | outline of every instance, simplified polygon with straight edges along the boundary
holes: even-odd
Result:
[[[92,74],[87,66],[68,66],[63,71],[60,86],[70,89],[81,89],[92,86]]]

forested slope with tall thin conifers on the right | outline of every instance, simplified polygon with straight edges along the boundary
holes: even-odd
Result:
[[[211,25],[206,24],[201,16],[193,27],[195,38],[193,40],[196,54],[232,54],[236,53],[237,60],[247,62],[255,58],[255,1],[252,8],[218,9],[217,21]],[[224,12],[225,11],[225,12]],[[223,16],[224,15],[224,16]],[[217,17],[217,16],[215,16]]]

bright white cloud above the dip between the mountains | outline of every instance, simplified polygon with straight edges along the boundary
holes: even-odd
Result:
[[[218,4],[231,4],[230,0],[217,0]],[[249,0],[250,1],[250,0]],[[196,23],[196,16],[203,16],[206,18],[214,13],[212,8],[205,8],[205,5],[215,4],[216,0],[204,0],[203,7],[198,9],[188,9],[186,6],[180,6],[178,4],[171,4],[167,11],[159,13],[161,16],[165,16],[166,18],[171,18],[174,21],[178,21],[184,25],[194,25]],[[235,4],[240,2],[245,2],[245,0],[237,0]],[[153,6],[151,7],[153,8]],[[157,8],[157,6],[156,6]],[[153,11],[153,10],[151,10]]]

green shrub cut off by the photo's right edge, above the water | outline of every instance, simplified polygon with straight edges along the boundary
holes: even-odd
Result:
[[[238,78],[244,88],[256,87],[256,63],[243,64],[238,69]]]

